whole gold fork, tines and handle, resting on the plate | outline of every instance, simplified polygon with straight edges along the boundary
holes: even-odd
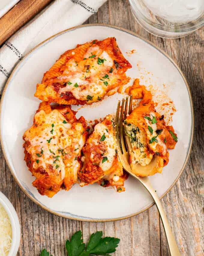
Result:
[[[125,105],[125,110],[124,110],[124,105]],[[180,254],[179,248],[176,244],[176,240],[174,238],[171,227],[169,225],[167,216],[164,212],[164,208],[162,207],[162,204],[158,198],[158,195],[155,192],[155,189],[152,187],[148,177],[136,176],[131,170],[131,166],[129,162],[130,156],[128,153],[128,146],[127,144],[125,144],[124,127],[123,127],[123,121],[126,119],[127,112],[128,114],[131,114],[132,112],[132,95],[130,96],[129,108],[128,108],[128,97],[126,97],[126,100],[124,98],[122,99],[121,110],[120,110],[120,101],[118,101],[118,107],[116,111],[116,142],[119,149],[118,150],[119,159],[122,163],[123,168],[131,176],[139,180],[143,184],[143,186],[147,189],[147,191],[150,193],[152,198],[154,199],[157,209],[159,211],[163,226],[164,226],[164,231],[167,237],[170,254],[171,256],[180,256],[181,254]]]

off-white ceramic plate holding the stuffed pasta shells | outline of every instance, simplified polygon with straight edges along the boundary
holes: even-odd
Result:
[[[149,86],[151,83],[158,86],[158,90],[164,90],[165,84],[168,96],[176,105],[172,124],[178,134],[178,143],[170,151],[170,162],[162,174],[150,177],[160,197],[179,178],[191,147],[193,110],[190,91],[183,74],[164,52],[131,31],[102,24],[83,25],[47,39],[19,62],[7,82],[1,101],[1,142],[10,170],[22,190],[47,211],[71,219],[117,220],[135,215],[153,203],[146,189],[132,177],[125,181],[126,191],[122,193],[98,184],[83,188],[75,184],[70,191],[60,191],[53,198],[41,196],[32,186],[34,177],[23,161],[22,135],[32,125],[33,115],[38,108],[40,101],[33,94],[44,72],[63,52],[74,48],[77,43],[112,36],[116,37],[125,58],[133,66],[128,70],[128,75],[132,78],[140,77],[141,84]],[[126,52],[132,49],[136,49],[137,53],[128,56]],[[76,116],[83,115],[88,120],[103,118],[116,111],[117,101],[122,97],[124,95],[116,93],[101,103],[81,108]],[[75,106],[73,109],[78,108]]]

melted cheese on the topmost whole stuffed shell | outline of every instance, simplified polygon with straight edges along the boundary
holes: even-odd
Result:
[[[88,95],[93,96],[93,99],[103,96],[112,74],[108,74],[109,79],[104,79],[103,76],[113,66],[113,60],[107,52],[103,51],[101,54],[100,52],[99,47],[95,45],[88,49],[84,55],[86,60],[80,61],[79,64],[76,64],[73,59],[70,59],[67,62],[67,74],[62,78],[68,80],[71,84],[67,84],[65,87],[59,89],[58,94],[71,92],[78,100],[87,100]],[[95,58],[88,58],[93,54],[96,55]],[[104,60],[104,63],[101,63],[101,65],[97,63],[98,57]],[[89,66],[88,68],[87,65]],[[107,86],[104,82],[108,83]]]

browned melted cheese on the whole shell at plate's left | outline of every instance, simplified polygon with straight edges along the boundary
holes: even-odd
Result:
[[[33,168],[38,169],[42,166],[50,174],[47,165],[52,165],[53,170],[61,173],[62,180],[67,168],[72,168],[77,179],[77,170],[80,166],[74,159],[85,143],[81,136],[84,130],[82,124],[74,123],[73,126],[56,109],[49,114],[44,110],[39,111],[35,114],[35,123],[37,126],[25,132],[25,140],[31,144],[26,149],[34,160]],[[67,154],[69,163],[65,166],[64,157]]]

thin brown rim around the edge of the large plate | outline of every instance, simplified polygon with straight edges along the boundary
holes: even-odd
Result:
[[[164,192],[163,195],[161,195],[161,197],[159,198],[160,200],[173,188],[173,186],[176,184],[176,182],[179,180],[179,177],[181,176],[186,164],[187,164],[187,161],[189,159],[189,156],[190,156],[190,152],[191,152],[191,148],[192,148],[192,143],[193,143],[193,135],[194,135],[194,111],[193,111],[193,100],[192,100],[192,95],[191,95],[191,92],[190,92],[190,87],[188,85],[188,82],[182,72],[182,70],[180,69],[180,67],[176,64],[176,62],[169,56],[167,55],[166,52],[164,52],[162,49],[160,49],[157,45],[155,45],[154,43],[150,42],[149,40],[143,38],[142,36],[138,35],[137,33],[135,32],[132,32],[131,30],[128,30],[128,29],[125,29],[125,28],[122,28],[122,27],[118,27],[118,26],[114,26],[114,25],[110,25],[110,24],[104,24],[104,23],[90,23],[90,24],[83,24],[83,25],[79,25],[79,26],[75,26],[75,27],[71,27],[69,29],[66,29],[66,30],[62,30],[50,37],[48,37],[47,39],[45,39],[44,41],[40,42],[38,45],[36,45],[34,48],[32,48],[32,50],[30,50],[23,58],[22,60],[19,61],[18,64],[16,64],[16,66],[14,67],[14,69],[12,70],[5,86],[4,86],[4,89],[3,89],[3,92],[2,92],[2,95],[1,95],[1,102],[0,102],[0,125],[1,125],[1,108],[2,108],[2,104],[3,104],[3,100],[4,100],[4,95],[5,95],[5,92],[6,92],[6,89],[7,89],[7,86],[10,82],[10,79],[12,78],[15,70],[17,69],[17,67],[21,64],[21,62],[28,56],[30,55],[36,48],[40,47],[42,44],[44,44],[45,42],[48,42],[50,39],[54,39],[56,36],[59,36],[63,33],[66,33],[67,31],[72,31],[72,30],[76,30],[76,29],[79,29],[79,28],[82,28],[82,27],[94,27],[94,26],[98,26],[98,27],[109,27],[109,28],[113,28],[113,29],[117,29],[117,30],[121,30],[123,32],[126,32],[126,33],[129,33],[137,38],[140,38],[141,40],[145,41],[146,43],[150,44],[151,46],[153,46],[154,48],[156,48],[159,52],[161,52],[165,57],[167,57],[171,63],[177,68],[177,70],[179,71],[179,73],[181,74],[183,80],[184,80],[184,83],[187,87],[187,91],[188,91],[188,95],[189,95],[189,99],[190,99],[190,106],[191,106],[191,114],[192,114],[192,122],[191,122],[191,136],[190,136],[190,144],[189,144],[189,147],[188,147],[188,151],[187,151],[187,156],[186,156],[186,159],[184,161],[184,164],[182,166],[182,169],[180,170],[178,176],[176,177],[176,179],[174,180],[174,182],[172,183],[172,185]],[[4,150],[4,147],[3,147],[3,140],[2,140],[2,135],[1,135],[1,127],[0,127],[0,142],[1,142],[1,148],[2,148],[2,152],[3,152],[3,155],[4,155],[4,159],[6,160],[6,163],[9,167],[9,170],[15,180],[15,182],[18,184],[18,186],[22,189],[22,191],[36,204],[38,204],[41,208],[43,208],[44,210],[52,213],[52,214],[55,214],[55,215],[58,215],[60,217],[64,217],[64,218],[67,218],[67,219],[71,219],[71,220],[78,220],[78,221],[85,221],[85,222],[110,222],[110,221],[116,221],[116,220],[124,220],[124,219],[127,219],[127,218],[130,218],[130,217],[133,217],[133,216],[136,216],[137,214],[140,214],[142,213],[143,211],[146,211],[148,210],[150,207],[152,207],[155,203],[152,203],[150,204],[149,206],[147,206],[146,208],[144,208],[143,210],[141,211],[138,211],[134,214],[130,214],[130,215],[126,215],[124,217],[119,217],[119,218],[113,218],[113,219],[92,219],[92,218],[87,218],[87,217],[84,217],[84,218],[80,218],[80,217],[71,217],[71,216],[66,216],[64,214],[60,214],[59,212],[56,212],[56,211],[52,211],[51,209],[49,209],[48,207],[46,207],[44,204],[42,204],[40,201],[38,201],[36,198],[33,198],[32,195],[30,195],[26,189],[20,184],[20,182],[17,180],[15,174],[13,173],[12,171],[12,168],[9,164],[9,161],[7,159],[7,156],[6,156],[6,153],[5,153],[5,150]]]

